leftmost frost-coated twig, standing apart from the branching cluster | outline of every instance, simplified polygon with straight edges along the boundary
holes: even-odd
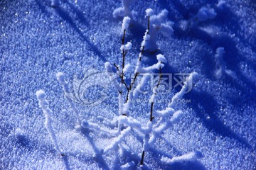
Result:
[[[54,145],[55,149],[57,150],[57,152],[60,155],[64,155],[58,145],[58,140],[57,140],[57,137],[53,130],[53,125],[52,125],[53,120],[51,118],[53,111],[50,110],[48,101],[46,101],[46,94],[43,90],[39,90],[39,91],[36,91],[36,97],[38,98],[39,106],[42,108],[43,113],[46,117],[45,127],[50,135],[50,139],[52,140],[53,145]]]

